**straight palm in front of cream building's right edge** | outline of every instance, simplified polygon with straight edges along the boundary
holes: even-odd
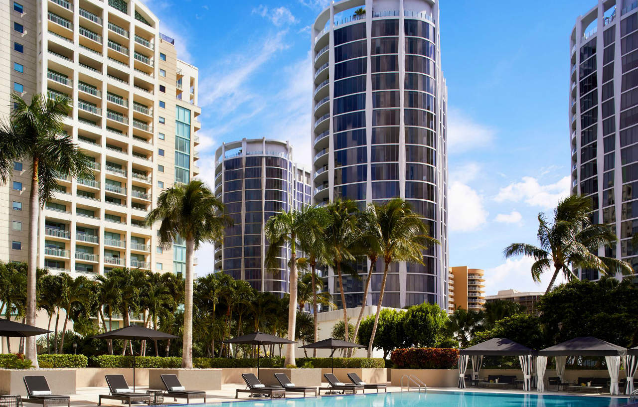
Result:
[[[232,225],[223,210],[224,204],[211,189],[193,179],[162,191],[157,207],[146,217],[148,225],[161,222],[159,244],[165,249],[181,239],[186,241],[182,367],[193,367],[193,253],[203,242],[221,241],[224,228]]]

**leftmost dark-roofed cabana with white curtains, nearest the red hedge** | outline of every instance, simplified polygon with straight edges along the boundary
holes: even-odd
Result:
[[[472,360],[472,379],[477,380],[480,365],[484,356],[517,356],[523,369],[523,390],[531,390],[531,376],[533,375],[533,357],[536,351],[503,337],[489,339],[469,348],[459,350],[459,388],[465,387],[465,370],[468,359]]]

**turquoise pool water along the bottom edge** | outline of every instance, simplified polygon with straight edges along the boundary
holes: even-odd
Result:
[[[221,407],[619,407],[638,406],[627,398],[497,394],[487,392],[391,392],[348,396],[321,396],[232,401],[205,404]]]

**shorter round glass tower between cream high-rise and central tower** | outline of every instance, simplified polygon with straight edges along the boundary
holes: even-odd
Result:
[[[288,292],[290,249],[281,249],[278,271],[265,270],[263,225],[310,203],[310,172],[292,161],[292,146],[266,138],[223,143],[215,152],[215,195],[234,221],[215,248],[215,270],[262,292]]]

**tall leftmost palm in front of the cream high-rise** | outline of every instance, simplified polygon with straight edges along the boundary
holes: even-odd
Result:
[[[29,190],[29,269],[26,290],[26,323],[36,323],[36,267],[38,265],[38,217],[45,202],[57,189],[60,175],[86,177],[92,173],[89,159],[64,134],[63,118],[70,110],[70,98],[46,98],[35,94],[29,103],[11,94],[13,110],[9,121],[0,123],[0,181],[11,177],[13,161],[31,162]],[[26,358],[38,367],[36,338],[26,339]]]

